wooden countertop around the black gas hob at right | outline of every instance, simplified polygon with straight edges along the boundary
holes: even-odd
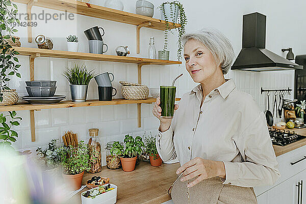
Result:
[[[295,133],[299,134],[299,135],[303,135],[303,136],[306,136],[306,128],[303,128],[303,129],[297,129],[297,128],[294,128],[294,129],[285,129],[286,131],[294,131]],[[297,142],[294,142],[292,144],[288,144],[286,146],[278,146],[278,145],[273,145],[273,148],[274,148],[274,152],[275,152],[275,155],[276,157],[279,156],[279,155],[283,155],[289,151],[292,151],[294,149],[297,149],[298,147],[301,147],[301,146],[304,146],[306,145],[306,138],[305,139],[302,139],[302,140],[299,140]]]

